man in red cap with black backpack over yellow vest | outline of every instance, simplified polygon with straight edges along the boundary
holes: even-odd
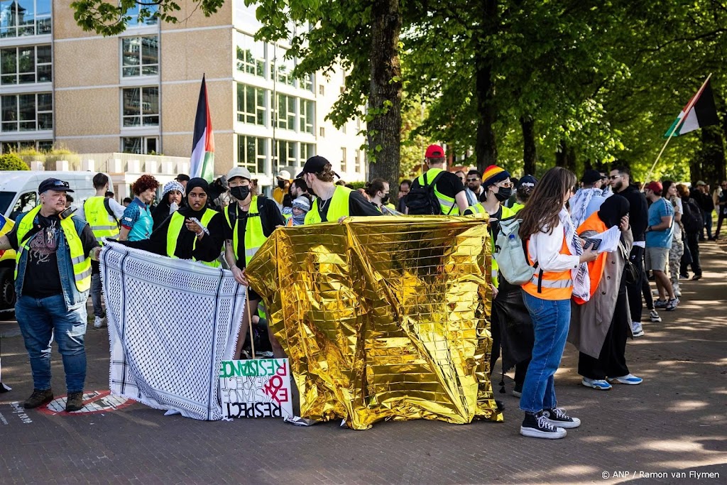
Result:
[[[427,172],[419,175],[411,184],[406,199],[406,213],[413,215],[460,215],[469,207],[465,185],[457,175],[444,169],[446,158],[439,145],[429,145],[425,154]],[[462,172],[461,170],[459,172]],[[465,172],[462,172],[465,175]],[[427,186],[433,185],[439,207],[431,207]]]

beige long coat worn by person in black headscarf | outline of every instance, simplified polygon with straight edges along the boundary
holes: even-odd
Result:
[[[585,231],[582,238],[595,235],[595,231]],[[628,255],[633,245],[631,229],[622,233],[624,248]],[[627,257],[627,256],[626,256]],[[571,300],[571,328],[568,341],[582,353],[598,358],[606,340],[608,328],[614,318],[616,300],[619,297],[619,285],[626,265],[626,257],[621,249],[606,254],[606,265],[598,289],[590,300],[578,305]],[[628,301],[627,301],[628,305]]]

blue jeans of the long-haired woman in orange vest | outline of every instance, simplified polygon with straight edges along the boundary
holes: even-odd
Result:
[[[523,302],[533,321],[535,343],[525,374],[520,409],[539,412],[557,407],[555,371],[561,365],[571,325],[571,300],[542,300],[523,291]]]

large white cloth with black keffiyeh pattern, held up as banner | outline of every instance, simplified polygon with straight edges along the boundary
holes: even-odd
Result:
[[[232,273],[108,241],[100,257],[111,392],[196,420],[221,420],[245,287]]]

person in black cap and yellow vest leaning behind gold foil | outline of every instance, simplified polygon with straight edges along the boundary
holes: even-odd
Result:
[[[381,215],[361,193],[343,185],[335,185],[337,177],[331,164],[322,156],[312,156],[305,161],[303,170],[297,175],[305,180],[308,191],[316,196],[310,212],[305,216],[306,224],[338,221],[345,217],[358,215]]]

